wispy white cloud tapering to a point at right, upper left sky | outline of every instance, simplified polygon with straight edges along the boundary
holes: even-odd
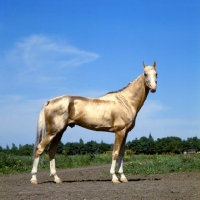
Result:
[[[33,35],[15,44],[9,60],[17,60],[29,68],[73,67],[97,59],[99,55],[57,42],[51,38]],[[56,65],[55,65],[56,64]]]

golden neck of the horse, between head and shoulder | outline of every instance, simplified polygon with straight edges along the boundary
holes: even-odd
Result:
[[[136,112],[139,112],[147,98],[149,90],[145,83],[144,75],[140,75],[135,81],[119,93],[119,96],[126,101]]]

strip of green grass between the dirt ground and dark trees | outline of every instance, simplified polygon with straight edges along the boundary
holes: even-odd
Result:
[[[200,154],[194,155],[127,155],[126,174],[161,174],[170,172],[200,172]],[[0,174],[30,172],[31,156],[15,156],[0,153]],[[75,168],[100,164],[111,164],[111,154],[88,154],[76,156],[56,156],[57,168]],[[44,155],[39,170],[49,169],[49,158]]]

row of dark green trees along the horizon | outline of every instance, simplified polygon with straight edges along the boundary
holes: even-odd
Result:
[[[19,145],[19,147],[12,144],[11,147],[7,145],[6,148],[0,146],[0,152],[19,156],[31,156],[33,154],[33,147],[33,144]],[[111,152],[112,149],[113,144],[107,144],[103,141],[97,143],[93,140],[84,143],[84,141],[80,139],[79,142],[67,142],[66,144],[60,142],[56,153],[64,155],[102,154]],[[179,137],[171,136],[154,140],[152,135],[149,134],[148,137],[143,136],[140,139],[135,138],[132,141],[128,141],[126,143],[126,149],[134,154],[180,154],[189,149],[200,151],[200,139],[191,137],[187,138],[187,140],[182,140]],[[47,153],[47,150],[45,151]]]

